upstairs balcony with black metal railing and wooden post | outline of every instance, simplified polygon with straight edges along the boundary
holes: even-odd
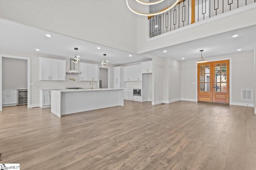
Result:
[[[202,22],[255,2],[256,0],[180,0],[167,12],[148,17],[149,37]]]

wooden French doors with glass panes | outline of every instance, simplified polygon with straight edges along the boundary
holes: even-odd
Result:
[[[198,63],[198,101],[229,104],[229,60]]]

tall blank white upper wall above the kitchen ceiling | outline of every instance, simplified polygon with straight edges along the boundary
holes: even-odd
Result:
[[[136,17],[124,0],[1,0],[0,16],[136,53]]]

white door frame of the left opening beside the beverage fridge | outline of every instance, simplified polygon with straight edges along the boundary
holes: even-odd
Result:
[[[14,56],[14,55],[4,55],[0,54],[0,111],[2,111],[2,58],[11,58],[11,59],[22,59],[22,60],[27,60],[27,70],[28,70],[28,108],[32,107],[31,106],[31,89],[30,89],[30,58],[28,57],[20,57],[20,56]]]

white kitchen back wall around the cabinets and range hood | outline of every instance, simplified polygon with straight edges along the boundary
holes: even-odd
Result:
[[[90,82],[79,81],[79,75],[72,75],[66,74],[66,81],[44,81],[39,80],[39,59],[38,57],[46,57],[46,58],[53,58],[53,59],[62,59],[67,60],[66,62],[66,71],[70,70],[70,59],[66,59],[63,57],[58,56],[51,56],[51,55],[40,55],[38,53],[23,53],[18,51],[10,51],[10,50],[1,50],[1,53],[4,55],[13,55],[13,56],[20,56],[20,57],[28,57],[30,58],[31,62],[31,83],[34,83],[34,86],[31,86],[31,104],[39,106],[39,89],[43,90],[52,90],[52,89],[64,89],[68,87],[82,87],[82,88],[90,88]],[[81,61],[84,63],[93,63],[93,64],[100,64],[101,61],[98,63],[92,61]],[[110,68],[110,88],[114,86],[113,80],[113,66],[108,64]],[[75,65],[76,70],[79,70],[79,64]],[[75,81],[69,80],[69,78],[74,78]],[[94,88],[98,87],[98,83],[94,83]]]

